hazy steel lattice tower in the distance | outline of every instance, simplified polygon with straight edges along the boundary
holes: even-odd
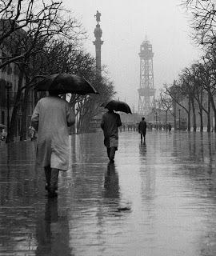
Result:
[[[154,104],[154,71],[152,45],[147,39],[140,46],[140,85],[138,89],[138,114],[148,114]]]

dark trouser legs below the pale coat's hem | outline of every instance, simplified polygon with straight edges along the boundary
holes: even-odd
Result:
[[[48,190],[57,190],[59,170],[56,168],[50,168],[50,166],[46,166],[44,167],[44,172]]]

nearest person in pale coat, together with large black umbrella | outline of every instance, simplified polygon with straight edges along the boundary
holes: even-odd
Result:
[[[75,114],[69,102],[58,94],[98,94],[84,78],[72,74],[51,74],[34,86],[35,90],[48,90],[49,96],[41,98],[34,108],[31,126],[38,131],[37,161],[44,167],[46,190],[50,198],[58,194],[59,170],[69,169],[68,126],[75,123]]]

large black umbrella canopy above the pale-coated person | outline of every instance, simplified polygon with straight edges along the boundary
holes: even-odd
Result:
[[[34,85],[38,91],[54,90],[58,94],[98,94],[98,91],[85,78],[75,74],[50,74]]]

